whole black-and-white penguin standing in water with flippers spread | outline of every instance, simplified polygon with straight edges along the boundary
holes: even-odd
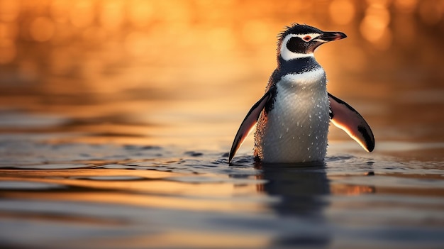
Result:
[[[305,24],[285,27],[278,35],[277,68],[264,96],[240,124],[228,163],[254,126],[253,152],[262,163],[323,162],[330,122],[372,152],[370,126],[352,106],[327,92],[326,72],[313,55],[319,45],[346,37]]]

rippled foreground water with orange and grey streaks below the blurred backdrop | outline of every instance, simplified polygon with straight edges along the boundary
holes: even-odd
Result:
[[[29,141],[12,143],[22,150],[9,146],[0,150],[0,244],[6,247],[444,243],[442,164],[342,155],[323,165],[274,167],[253,167],[252,157],[238,157],[237,166],[228,167],[217,152]]]

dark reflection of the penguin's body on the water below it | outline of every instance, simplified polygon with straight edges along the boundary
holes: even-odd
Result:
[[[277,197],[270,204],[282,218],[294,218],[294,230],[287,231],[272,243],[274,246],[324,246],[330,242],[323,210],[328,206],[326,196],[330,184],[326,165],[256,165],[265,179],[257,186],[258,191]]]

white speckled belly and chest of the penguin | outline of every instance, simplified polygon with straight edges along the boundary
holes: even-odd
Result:
[[[262,162],[313,162],[326,156],[330,104],[325,72],[304,74],[282,77],[273,109],[260,116],[255,155]]]

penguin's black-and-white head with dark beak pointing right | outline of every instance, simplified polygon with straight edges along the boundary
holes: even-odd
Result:
[[[323,43],[346,38],[342,32],[324,32],[308,25],[294,24],[280,33],[278,57],[294,60],[300,57],[313,56],[314,50]]]

